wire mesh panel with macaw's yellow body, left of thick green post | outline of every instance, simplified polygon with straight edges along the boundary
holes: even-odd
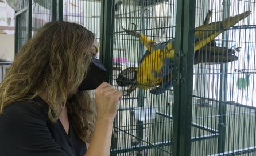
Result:
[[[124,97],[111,154],[170,155],[173,71],[169,67],[174,62],[160,51],[167,47],[161,43],[172,42],[175,35],[176,2],[114,1],[112,9],[111,78]]]

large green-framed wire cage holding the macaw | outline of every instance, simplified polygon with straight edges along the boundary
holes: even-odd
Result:
[[[24,1],[25,2],[25,1]],[[122,29],[145,34],[157,43],[175,38],[173,87],[150,86],[123,97],[113,126],[111,155],[255,155],[255,2],[176,1],[28,1],[16,13],[15,49],[55,20],[76,22],[93,31],[107,81],[138,67],[146,48]],[[195,63],[196,30],[212,11],[210,23],[250,10],[249,17],[215,38],[216,46],[238,48],[237,61]],[[207,45],[205,48],[211,47]],[[103,53],[104,52],[104,53]],[[211,57],[200,49],[201,59]],[[164,89],[159,95],[151,89]]]

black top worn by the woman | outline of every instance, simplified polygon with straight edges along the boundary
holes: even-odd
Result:
[[[60,120],[48,119],[48,104],[41,98],[14,102],[0,115],[0,156],[84,156],[86,144],[79,139],[69,117],[69,133]]]

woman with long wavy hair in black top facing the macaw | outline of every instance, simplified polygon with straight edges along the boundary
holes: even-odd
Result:
[[[0,86],[0,156],[109,155],[121,92],[103,82],[94,102],[79,89],[97,52],[94,39],[58,21],[25,43]]]

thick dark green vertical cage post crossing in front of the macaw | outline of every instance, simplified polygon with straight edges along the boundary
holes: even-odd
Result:
[[[173,155],[191,155],[195,1],[177,1]],[[179,65],[179,66],[178,66]]]

